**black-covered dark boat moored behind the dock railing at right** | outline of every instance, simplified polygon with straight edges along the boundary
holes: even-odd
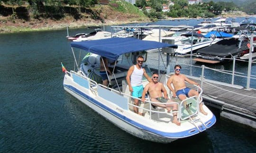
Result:
[[[249,53],[250,42],[230,38],[197,51],[195,61],[204,63],[224,63]]]

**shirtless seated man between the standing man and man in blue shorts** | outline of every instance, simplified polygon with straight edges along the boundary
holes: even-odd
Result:
[[[168,99],[167,91],[165,89],[165,86],[158,82],[158,73],[153,73],[152,75],[152,82],[148,83],[142,93],[141,102],[145,102],[145,95],[146,93],[149,93],[150,100],[152,102],[163,102],[164,104],[157,104],[157,106],[164,107],[170,112],[170,107],[173,107],[174,111],[178,110],[178,105],[172,102],[170,99]],[[163,96],[164,93],[164,96]],[[170,104],[168,104],[170,103]],[[177,119],[177,112],[174,113],[174,119],[173,123],[180,126],[181,123]]]

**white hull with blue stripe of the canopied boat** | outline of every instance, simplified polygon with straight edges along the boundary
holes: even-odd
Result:
[[[122,109],[118,105],[102,99],[97,94],[92,93],[91,90],[75,83],[68,74],[64,76],[64,89],[129,134],[153,142],[170,143],[179,138],[198,134],[216,122],[215,116],[205,107],[209,115],[207,115],[207,119],[202,121],[207,125],[207,128],[198,125],[199,130],[189,122],[184,122],[182,126],[177,126],[170,119],[160,123],[146,118],[146,115],[145,117],[139,116],[129,109]]]

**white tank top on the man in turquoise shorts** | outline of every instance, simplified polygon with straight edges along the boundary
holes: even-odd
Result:
[[[131,86],[142,85],[143,73],[144,73],[143,68],[138,69],[136,65],[134,65],[134,70],[131,74]]]

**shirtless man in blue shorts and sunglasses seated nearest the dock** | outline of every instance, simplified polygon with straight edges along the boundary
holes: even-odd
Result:
[[[175,70],[175,74],[172,75],[167,81],[167,86],[173,92],[173,96],[176,97],[176,95],[177,95],[181,101],[183,101],[187,97],[191,97],[191,96],[198,97],[199,93],[193,89],[186,87],[185,81],[187,81],[188,83],[190,83],[192,85],[199,85],[199,84],[188,79],[185,75],[180,74],[180,71],[181,71],[180,65],[175,65],[174,70]],[[174,85],[175,90],[173,89],[171,84]],[[203,106],[203,103],[200,103],[200,105],[199,105],[200,112],[204,115],[207,115],[207,112],[205,112],[203,110],[202,106]]]

